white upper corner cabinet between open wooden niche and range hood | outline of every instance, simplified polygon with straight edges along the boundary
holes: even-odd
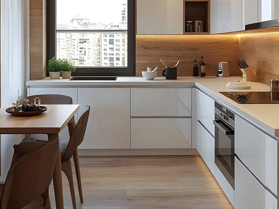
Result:
[[[211,34],[244,30],[244,1],[211,0]]]

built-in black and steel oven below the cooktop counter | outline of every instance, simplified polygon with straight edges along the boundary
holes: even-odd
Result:
[[[215,102],[215,165],[234,189],[234,114]]]

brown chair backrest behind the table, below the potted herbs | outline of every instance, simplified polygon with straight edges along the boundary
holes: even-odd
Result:
[[[70,96],[60,94],[40,94],[28,96],[29,102],[34,103],[34,99],[39,97],[41,104],[73,104],[73,99]]]

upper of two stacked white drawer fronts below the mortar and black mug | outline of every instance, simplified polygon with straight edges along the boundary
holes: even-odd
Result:
[[[131,116],[191,116],[191,88],[132,88]]]

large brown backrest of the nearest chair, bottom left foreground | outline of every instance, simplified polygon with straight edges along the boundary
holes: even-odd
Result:
[[[23,208],[47,191],[51,183],[59,142],[22,143],[14,146],[15,152],[16,149],[21,152],[24,146],[32,151],[23,156],[18,154],[20,158],[12,163],[1,196],[1,209]]]

